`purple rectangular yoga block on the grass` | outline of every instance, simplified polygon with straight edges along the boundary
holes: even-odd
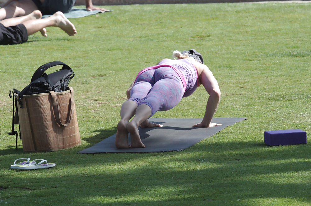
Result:
[[[301,129],[265,131],[264,142],[270,146],[306,144],[307,133]]]

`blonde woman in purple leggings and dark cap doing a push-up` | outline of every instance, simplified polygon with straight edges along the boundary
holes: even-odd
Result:
[[[210,96],[202,122],[193,127],[221,125],[211,123],[220,101],[220,90],[215,77],[203,64],[202,55],[191,49],[182,53],[175,51],[173,56],[177,59],[163,59],[156,66],[140,71],[128,88],[128,100],[121,106],[121,120],[117,125],[117,148],[145,147],[138,127],[163,127],[161,124],[148,122],[147,119],[157,111],[172,109],[182,97],[191,95],[201,84]],[[131,145],[128,145],[128,133],[131,135]]]

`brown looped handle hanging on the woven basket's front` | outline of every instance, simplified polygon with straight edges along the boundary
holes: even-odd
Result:
[[[72,87],[68,87],[70,89],[70,99],[69,99],[69,105],[68,106],[68,114],[67,114],[67,118],[66,118],[66,123],[62,124],[61,120],[60,120],[60,114],[59,114],[59,107],[58,107],[58,103],[57,103],[57,98],[56,98],[56,94],[54,91],[50,91],[49,93],[52,96],[52,105],[53,105],[53,113],[54,113],[54,118],[58,124],[58,126],[68,126],[68,124],[70,123],[71,120],[71,115],[72,115],[72,111],[73,111],[73,105],[75,104],[75,101],[73,100],[73,89]]]

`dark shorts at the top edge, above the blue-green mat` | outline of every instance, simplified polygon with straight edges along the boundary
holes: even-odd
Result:
[[[38,7],[42,15],[53,15],[56,12],[68,13],[76,0],[44,0],[43,3],[40,0],[32,0]]]

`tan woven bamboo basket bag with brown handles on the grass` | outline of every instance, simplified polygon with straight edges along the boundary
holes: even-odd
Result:
[[[18,108],[24,152],[57,151],[81,144],[72,87],[24,95]]]

